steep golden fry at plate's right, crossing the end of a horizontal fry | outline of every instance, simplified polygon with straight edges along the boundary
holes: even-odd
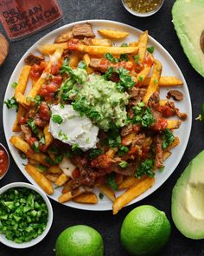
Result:
[[[143,97],[143,102],[147,103],[150,100],[150,96],[158,89],[159,79],[162,73],[163,65],[158,60],[155,60],[152,76],[150,79],[147,92]]]

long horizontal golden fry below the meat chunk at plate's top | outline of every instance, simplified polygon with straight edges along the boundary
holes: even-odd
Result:
[[[104,55],[105,53],[110,53],[112,55],[121,55],[121,54],[136,54],[137,47],[115,47],[115,46],[89,46],[79,44],[77,49],[81,52],[86,52],[90,55]]]

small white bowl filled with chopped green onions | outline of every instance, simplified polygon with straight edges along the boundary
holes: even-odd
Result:
[[[27,248],[40,242],[53,221],[47,196],[23,182],[0,189],[0,240],[13,248]]]

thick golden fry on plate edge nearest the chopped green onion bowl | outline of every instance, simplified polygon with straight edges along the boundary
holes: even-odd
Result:
[[[53,194],[54,188],[53,185],[48,179],[41,174],[38,169],[30,164],[25,166],[27,173],[34,179],[34,181],[47,193]]]

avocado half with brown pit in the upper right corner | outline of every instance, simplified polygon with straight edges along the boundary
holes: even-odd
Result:
[[[172,16],[177,36],[189,62],[204,76],[204,1],[177,0]]]

